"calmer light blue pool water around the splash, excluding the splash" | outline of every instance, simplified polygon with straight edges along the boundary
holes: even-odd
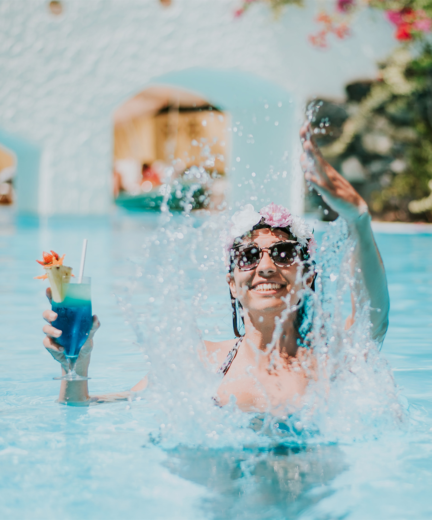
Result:
[[[177,432],[179,443],[171,436],[170,443],[158,444],[154,432],[160,430],[160,417],[145,397],[90,408],[55,402],[59,383],[52,377],[58,366],[42,347],[45,285],[33,280],[39,274],[34,259],[43,249],[66,252],[66,264],[77,266],[82,239],[89,239],[86,274],[92,277],[93,310],[102,322],[92,354],[90,392],[129,388],[148,369],[137,343],[150,337],[143,325],[161,327],[159,292],[175,289],[158,285],[157,262],[150,264],[153,272],[141,267],[142,245],[158,233],[157,217],[116,214],[35,222],[17,221],[5,212],[1,218],[2,518],[432,516],[429,228],[376,233],[391,301],[383,353],[410,406],[404,428],[339,443],[259,445],[246,436],[231,445],[200,444],[193,438],[199,427],[191,417],[185,433]],[[209,339],[229,337],[225,282],[221,274],[206,275],[206,268],[198,261],[184,273],[173,301],[182,291],[190,300],[185,307],[176,303],[177,314],[170,308],[166,314],[171,321],[178,319],[181,328],[182,313],[196,313]],[[213,294],[210,303],[197,296],[208,294]],[[138,340],[134,327],[143,335]],[[172,373],[173,384],[176,377],[180,384],[181,376]]]

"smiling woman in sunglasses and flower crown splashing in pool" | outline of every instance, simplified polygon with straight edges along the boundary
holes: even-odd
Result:
[[[309,125],[302,128],[301,140],[305,178],[346,220],[348,233],[356,244],[351,265],[362,290],[352,287],[356,294],[345,328],[353,326],[354,302],[363,298],[370,308],[372,338],[380,342],[387,330],[389,303],[368,207],[348,181],[322,158]],[[304,219],[291,215],[283,206],[272,203],[258,213],[247,204],[233,215],[226,237],[225,264],[238,339],[205,342],[210,363],[216,361],[220,367],[218,373],[223,374],[214,397],[220,406],[234,398],[244,411],[286,414],[287,410],[294,412],[301,408],[309,381],[318,377],[316,358],[310,355],[315,339],[307,325],[314,319],[313,306],[307,301],[314,290],[315,246],[313,233]],[[237,309],[244,324],[243,335],[238,332]],[[56,342],[61,331],[51,325],[56,317],[53,311],[44,313],[49,323],[44,327],[47,334],[44,345],[63,365],[64,354]],[[92,336],[98,328],[99,321],[94,316],[89,340],[78,357],[78,373],[79,370],[87,373]],[[62,383],[59,400],[68,404],[88,405],[133,396],[125,392],[90,397],[87,381]],[[145,386],[146,380],[142,380],[132,391]]]

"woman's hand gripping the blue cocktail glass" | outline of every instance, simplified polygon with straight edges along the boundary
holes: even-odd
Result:
[[[49,303],[51,303],[51,288],[48,287],[46,291],[47,298]],[[61,330],[52,327],[52,322],[57,319],[57,314],[53,310],[45,310],[43,315],[45,321],[48,322],[48,325],[45,325],[42,329],[46,336],[44,338],[44,347],[48,350],[51,356],[60,363],[64,372],[69,371],[69,363],[64,355],[64,348],[56,342],[56,339],[61,336]],[[91,351],[93,349],[93,336],[95,332],[99,329],[100,322],[98,317],[93,316],[93,325],[88,334],[87,341],[84,343],[83,347],[79,351],[78,360],[76,363],[76,373],[79,375],[87,375],[88,366],[90,363]]]

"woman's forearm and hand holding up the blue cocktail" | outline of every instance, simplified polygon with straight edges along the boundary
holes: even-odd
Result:
[[[51,289],[47,289],[47,297],[51,302]],[[53,310],[45,310],[43,318],[48,322],[44,326],[43,331],[46,334],[44,338],[44,347],[48,350],[51,356],[60,363],[62,375],[66,374],[68,369],[68,360],[64,355],[63,347],[56,342],[56,339],[61,336],[61,331],[52,327],[52,321],[57,319],[57,314]],[[93,324],[89,332],[87,341],[79,351],[78,360],[76,363],[76,372],[79,375],[88,375],[88,367],[90,364],[91,352],[93,350],[93,336],[100,327],[98,317],[93,316]],[[104,395],[92,395],[88,393],[88,382],[84,381],[61,381],[59,402],[73,406],[90,406],[95,404],[102,404],[104,402],[128,401],[136,397],[136,393],[144,390],[147,386],[147,376],[145,376],[139,383],[129,391],[116,392]]]

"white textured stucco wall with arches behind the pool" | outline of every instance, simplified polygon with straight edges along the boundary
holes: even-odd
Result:
[[[388,24],[380,15],[371,21],[365,13],[349,41],[335,42],[327,53],[310,48],[306,37],[315,28],[317,9],[312,1],[304,9],[287,9],[278,21],[258,5],[235,20],[236,1],[173,0],[168,8],[157,0],[64,5],[63,14],[55,17],[46,2],[0,2],[0,129],[11,142],[22,138],[31,143],[41,157],[34,168],[19,168],[23,212],[36,207],[45,214],[108,212],[112,112],[157,82],[196,86],[207,96],[213,90],[222,102],[231,96],[231,106],[223,108],[236,111],[245,127],[257,110],[264,110],[266,85],[274,87],[272,101],[282,94],[284,101],[292,98],[296,105],[280,112],[280,126],[274,127],[272,115],[271,131],[255,125],[262,135],[258,144],[247,147],[241,141],[240,163],[232,175],[233,185],[244,188],[251,168],[240,164],[255,161],[263,177],[271,166],[276,174],[288,167],[291,178],[280,179],[273,192],[281,197],[281,186],[290,189],[296,182],[298,188],[288,197],[301,207],[298,170],[291,164],[297,154],[298,108],[310,95],[340,96],[347,81],[373,76],[375,59],[393,45]],[[192,69],[190,75],[187,69]],[[199,69],[210,70],[201,81],[212,83],[207,92],[196,80]],[[225,75],[219,77],[219,70]],[[241,86],[245,95],[238,90],[232,95],[227,91],[230,81],[238,83],[241,72],[247,73]],[[256,88],[253,75],[262,79]],[[276,106],[271,108],[276,111]],[[236,153],[233,147],[234,165]],[[238,190],[234,196],[242,194]]]

